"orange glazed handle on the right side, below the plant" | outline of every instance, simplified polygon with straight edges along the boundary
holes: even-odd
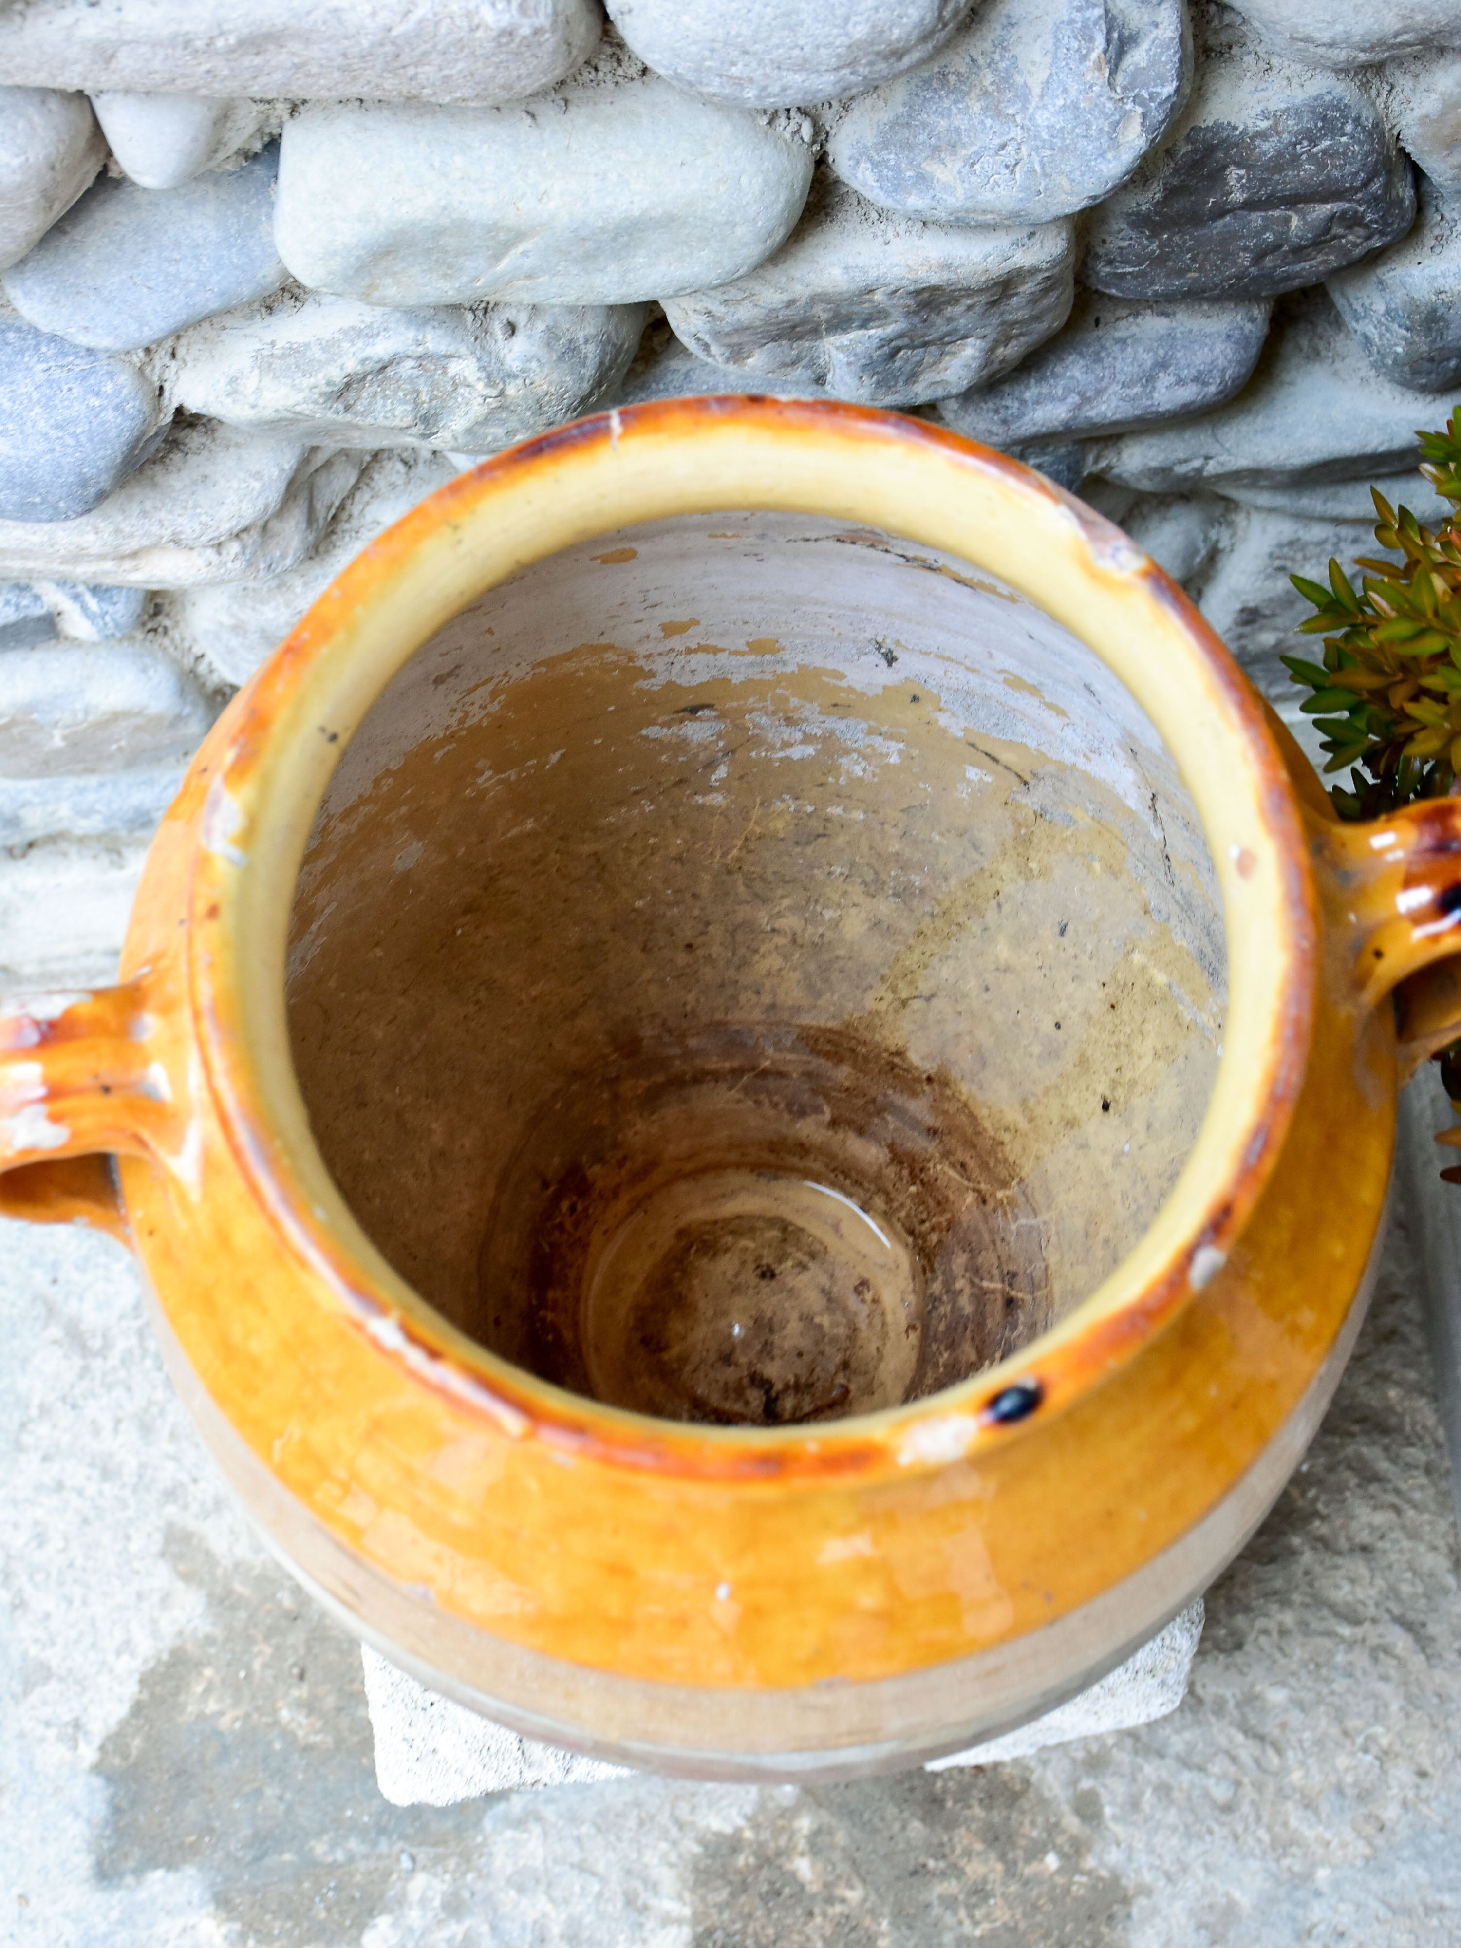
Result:
[[[1395,995],[1401,1077],[1461,1036],[1461,799],[1422,799],[1371,824],[1325,822],[1315,859],[1362,1007]]]

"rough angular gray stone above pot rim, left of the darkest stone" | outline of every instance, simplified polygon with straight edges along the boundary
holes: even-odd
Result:
[[[888,216],[824,175],[746,277],[666,298],[697,358],[863,405],[919,405],[995,378],[1069,312],[1071,224],[962,228]]]

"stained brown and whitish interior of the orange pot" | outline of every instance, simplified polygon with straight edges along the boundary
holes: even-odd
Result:
[[[600,536],[401,668],[298,880],[316,1140],[481,1344],[777,1426],[970,1377],[1136,1245],[1208,1105],[1216,877],[1136,699],[964,561]]]

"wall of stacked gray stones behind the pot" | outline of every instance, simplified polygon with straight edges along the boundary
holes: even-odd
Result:
[[[0,8],[0,982],[105,978],[216,709],[577,413],[916,409],[1255,678],[1461,382],[1461,0]]]

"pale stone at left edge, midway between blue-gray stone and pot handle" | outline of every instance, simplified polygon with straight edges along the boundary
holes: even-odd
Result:
[[[0,777],[175,769],[210,715],[177,664],[146,645],[12,651],[0,656]]]

